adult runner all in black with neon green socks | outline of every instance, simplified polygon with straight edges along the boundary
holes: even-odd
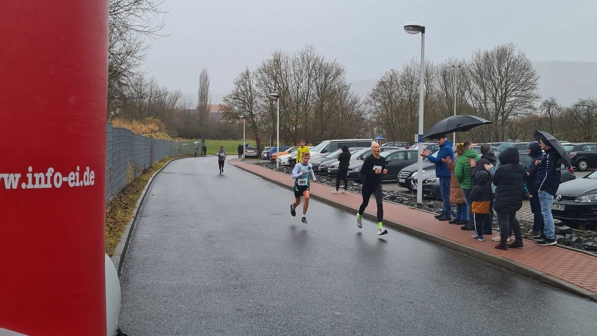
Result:
[[[363,161],[361,167],[361,176],[363,180],[363,187],[361,194],[363,203],[359,207],[359,212],[356,214],[356,226],[363,227],[362,218],[365,208],[369,205],[369,199],[372,194],[375,194],[377,203],[377,234],[386,234],[387,230],[383,228],[383,193],[381,191],[381,174],[387,174],[386,159],[379,155],[379,143],[371,145],[371,155]]]

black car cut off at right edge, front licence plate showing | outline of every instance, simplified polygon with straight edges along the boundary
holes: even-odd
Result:
[[[597,171],[559,185],[552,215],[563,222],[597,222]]]

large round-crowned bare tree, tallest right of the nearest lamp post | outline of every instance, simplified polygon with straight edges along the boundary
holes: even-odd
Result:
[[[479,115],[493,121],[494,140],[503,140],[506,121],[533,111],[539,96],[539,76],[525,53],[513,44],[476,51],[469,62],[470,104]]]

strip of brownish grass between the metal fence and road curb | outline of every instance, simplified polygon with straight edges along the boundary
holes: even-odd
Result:
[[[171,160],[165,157],[161,161],[156,162],[153,166],[147,168],[141,175],[134,179],[134,181],[124,187],[118,195],[112,197],[110,203],[106,207],[106,253],[112,256],[116,245],[120,242],[120,238],[128,222],[133,218],[133,210],[137,204],[137,200],[141,197],[143,188],[147,185],[149,178],[153,173],[162,169],[164,165]]]

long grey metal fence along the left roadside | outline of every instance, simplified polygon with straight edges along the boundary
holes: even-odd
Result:
[[[156,161],[192,151],[186,143],[146,138],[107,123],[106,204]]]

